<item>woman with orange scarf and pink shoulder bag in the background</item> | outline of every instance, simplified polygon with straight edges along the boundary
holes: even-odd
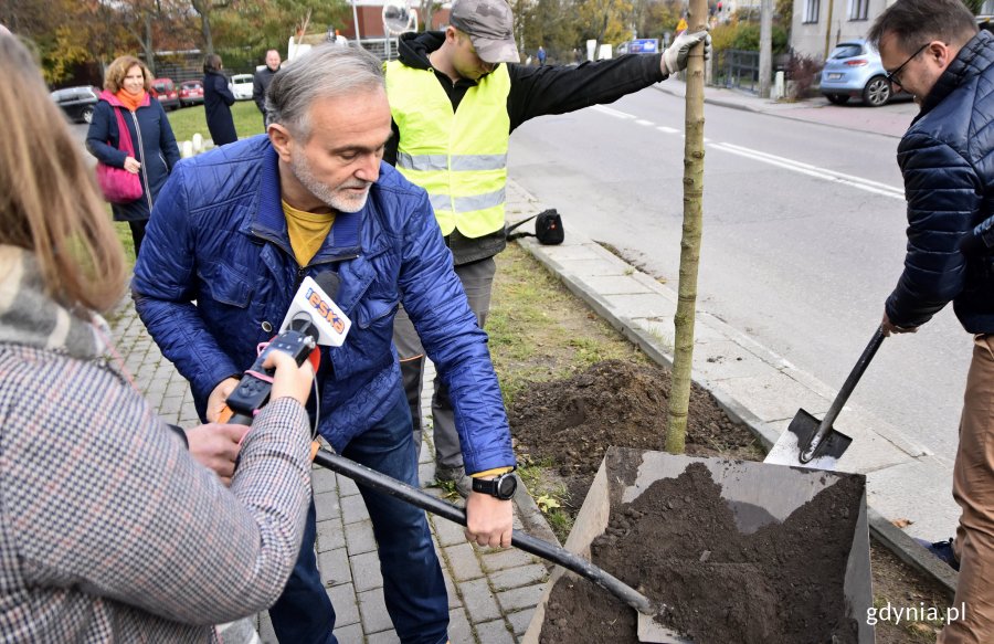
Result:
[[[151,72],[135,56],[120,56],[107,67],[104,91],[93,110],[86,133],[86,149],[98,161],[135,172],[141,180],[144,194],[130,203],[110,207],[115,221],[126,221],[131,229],[135,256],[141,249],[145,228],[166,178],[179,161],[179,147],[166,110],[151,98]],[[115,112],[125,116],[135,156],[123,152]]]

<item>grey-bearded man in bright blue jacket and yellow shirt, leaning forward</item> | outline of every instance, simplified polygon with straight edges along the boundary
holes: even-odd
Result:
[[[515,465],[487,337],[424,190],[381,163],[391,117],[379,60],[352,47],[315,47],[273,78],[267,108],[267,137],[177,166],[135,267],[138,313],[190,381],[201,418],[216,418],[302,279],[320,283],[334,273],[340,286],[332,297],[352,327],[341,347],[322,352],[321,435],[343,455],[417,485],[391,342],[403,302],[452,389],[467,468],[480,489],[506,492],[484,483]],[[512,510],[501,490],[467,499],[470,540],[510,545]],[[424,513],[360,492],[398,635],[405,643],[445,642],[448,602]],[[311,504],[297,566],[269,611],[284,644],[336,641],[314,535]]]

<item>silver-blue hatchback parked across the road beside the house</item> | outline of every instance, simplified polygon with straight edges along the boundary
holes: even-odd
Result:
[[[893,88],[877,53],[865,40],[840,42],[822,70],[822,94],[836,105],[861,98],[873,107],[887,105]]]

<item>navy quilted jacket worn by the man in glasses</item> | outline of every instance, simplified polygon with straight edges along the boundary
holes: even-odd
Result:
[[[960,241],[994,213],[994,36],[981,31],[924,98],[898,147],[908,201],[905,272],[887,299],[901,327],[949,302],[971,334],[994,332],[994,257]]]

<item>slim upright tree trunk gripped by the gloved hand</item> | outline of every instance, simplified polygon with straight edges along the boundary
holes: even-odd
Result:
[[[707,0],[691,0],[687,20],[691,33],[705,29]],[[697,304],[697,270],[700,264],[700,233],[704,197],[704,46],[690,52],[687,65],[686,137],[684,139],[684,235],[680,240],[680,282],[674,316],[673,387],[669,391],[669,423],[666,451],[683,454],[690,407],[690,368],[694,362],[694,309]],[[670,83],[676,80],[668,81]]]

